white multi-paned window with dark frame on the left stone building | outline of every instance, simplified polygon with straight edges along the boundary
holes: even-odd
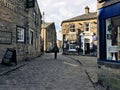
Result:
[[[17,26],[17,42],[25,42],[25,28]]]

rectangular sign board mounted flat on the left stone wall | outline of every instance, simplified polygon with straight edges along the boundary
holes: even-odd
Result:
[[[0,31],[0,44],[12,44],[12,32]]]

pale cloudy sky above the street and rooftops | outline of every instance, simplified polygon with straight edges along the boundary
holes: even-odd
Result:
[[[97,0],[37,0],[41,14],[44,12],[45,22],[54,22],[57,39],[61,37],[61,22],[85,13],[88,6],[90,12],[96,12]]]

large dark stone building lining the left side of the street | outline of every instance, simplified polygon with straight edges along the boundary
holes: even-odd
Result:
[[[17,61],[40,55],[41,17],[37,0],[0,0],[0,60],[7,48]]]

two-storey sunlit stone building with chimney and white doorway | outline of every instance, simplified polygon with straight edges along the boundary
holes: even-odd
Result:
[[[83,54],[89,53],[93,44],[97,45],[97,12],[85,7],[85,14],[62,21],[63,48],[76,51],[80,47]]]

